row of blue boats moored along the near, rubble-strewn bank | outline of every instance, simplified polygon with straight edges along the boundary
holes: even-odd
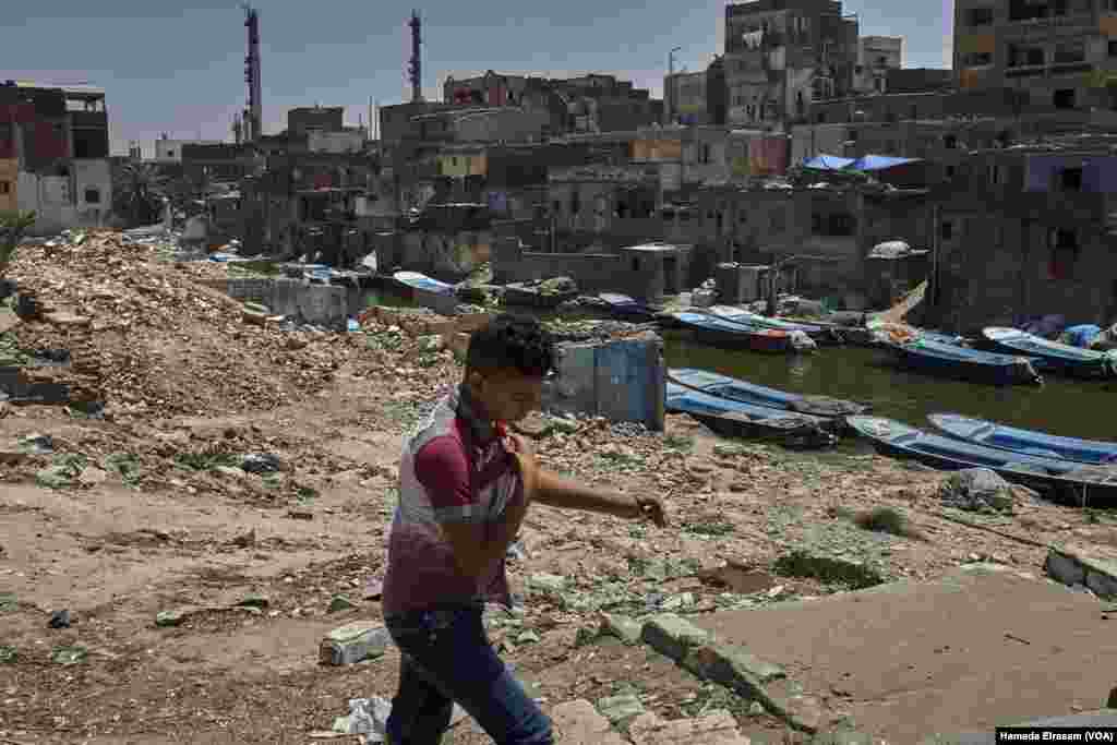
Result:
[[[724,437],[820,448],[867,438],[885,453],[944,470],[989,468],[1078,504],[1117,500],[1117,442],[1019,429],[956,413],[928,417],[937,432],[869,414],[870,407],[756,385],[691,367],[668,371],[665,408]]]

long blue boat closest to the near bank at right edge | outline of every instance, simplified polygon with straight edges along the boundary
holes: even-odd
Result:
[[[1011,481],[1050,489],[1079,504],[1117,500],[1117,468],[964,442],[881,417],[849,417],[847,422],[884,455],[918,460],[943,470],[989,468]]]

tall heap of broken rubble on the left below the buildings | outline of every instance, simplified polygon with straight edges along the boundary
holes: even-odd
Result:
[[[121,233],[51,242],[21,247],[9,269],[39,306],[13,334],[25,350],[68,350],[69,365],[29,375],[106,414],[274,409],[328,383],[353,348],[344,336],[247,325],[239,303]]]

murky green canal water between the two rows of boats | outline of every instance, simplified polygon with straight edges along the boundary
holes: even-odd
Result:
[[[365,300],[414,305],[390,289],[369,289]],[[670,367],[700,367],[783,391],[870,403],[873,414],[913,427],[933,429],[927,414],[955,412],[1051,434],[1117,440],[1117,381],[1047,375],[1042,385],[995,386],[901,371],[882,350],[824,346],[810,354],[762,354],[698,344],[687,332],[661,333]]]

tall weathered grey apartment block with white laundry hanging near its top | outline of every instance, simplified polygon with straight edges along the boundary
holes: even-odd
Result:
[[[753,0],[725,8],[728,120],[801,120],[812,101],[848,95],[858,22],[839,0]]]

